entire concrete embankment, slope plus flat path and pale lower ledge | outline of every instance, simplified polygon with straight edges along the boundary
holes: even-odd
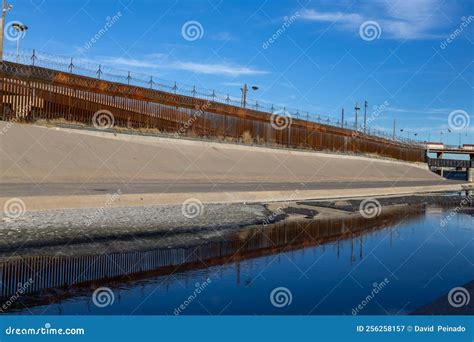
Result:
[[[180,203],[196,193],[205,193],[202,201],[231,202],[284,200],[296,188],[292,199],[459,188],[421,165],[367,157],[5,122],[0,132],[0,196],[50,196],[45,208],[66,195],[77,195],[79,206],[100,205],[117,188],[123,205]],[[105,190],[81,199],[91,195],[79,191],[87,184]],[[21,192],[25,186],[35,191]]]

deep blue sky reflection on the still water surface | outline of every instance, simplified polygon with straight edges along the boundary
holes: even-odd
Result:
[[[225,266],[159,276],[114,288],[115,302],[97,308],[91,296],[24,310],[47,314],[170,314],[209,277],[211,283],[183,314],[351,314],[373,290],[389,283],[360,314],[404,314],[474,279],[472,216],[447,213],[369,232],[362,237],[241,260]],[[270,302],[275,287],[292,293],[289,306]]]

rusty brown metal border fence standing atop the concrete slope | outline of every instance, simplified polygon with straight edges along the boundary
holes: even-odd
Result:
[[[271,113],[37,65],[5,61],[0,78],[2,120],[92,124],[96,112],[107,110],[119,127],[232,141],[247,134],[252,142],[266,145],[425,160],[421,145],[297,118],[287,128],[275,129]]]

